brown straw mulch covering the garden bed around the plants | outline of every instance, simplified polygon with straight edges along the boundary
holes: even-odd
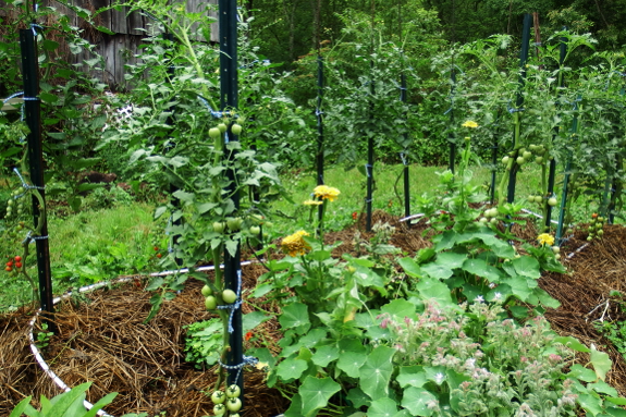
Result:
[[[391,243],[407,255],[429,245],[431,232],[426,220],[409,228],[396,217],[376,212],[373,222],[393,225]],[[342,242],[333,255],[358,255],[359,244],[371,237],[363,231],[363,223],[359,219],[352,228],[327,234],[328,243]],[[531,226],[515,228],[521,240],[531,242],[537,236]],[[549,309],[545,316],[560,334],[574,335],[607,352],[614,363],[607,382],[626,395],[626,361],[597,330],[603,321],[626,320],[622,299],[611,295],[613,290],[626,293],[626,229],[607,225],[603,240],[588,243],[586,237],[582,230],[575,231],[564,245],[567,274],[541,278],[540,286],[561,302],[561,307]],[[244,267],[244,287],[254,287],[263,272],[260,263]],[[144,278],[136,277],[125,284],[63,301],[54,315],[59,333],[45,349],[46,361],[70,387],[93,381],[88,392],[91,402],[118,392],[106,408],[113,416],[139,412],[150,416],[165,412],[168,417],[211,415],[212,404],[204,391],[214,382],[214,369],[195,369],[185,363],[183,352],[185,326],[210,318],[204,308],[201,283],[189,281],[149,323],[143,322],[150,309],[150,294],[144,291],[145,285]],[[243,308],[244,312],[253,309],[248,304]],[[28,321],[33,315],[33,308],[24,307],[0,316],[0,416],[8,416],[27,395],[38,398],[41,394],[51,397],[60,393],[30,352]],[[278,351],[277,320],[261,326],[245,347],[262,345]],[[577,360],[586,364],[588,357],[578,355]],[[272,417],[289,407],[287,398],[266,387],[262,369],[246,367],[244,379],[244,416]]]

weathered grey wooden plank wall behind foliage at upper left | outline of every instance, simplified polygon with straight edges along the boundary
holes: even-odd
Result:
[[[115,0],[69,1],[90,12],[107,8],[116,2]],[[204,10],[209,3],[217,4],[218,0],[186,0],[186,8],[189,12],[198,12]],[[148,16],[137,12],[127,15],[127,10],[108,10],[99,13],[98,16],[96,16],[96,23],[113,33],[113,35],[108,35],[88,27],[72,10],[58,1],[40,0],[39,5],[48,5],[57,9],[60,14],[65,14],[72,19],[72,25],[84,28],[84,37],[96,46],[96,52],[102,56],[105,60],[105,68],[101,72],[97,73],[96,76],[108,84],[112,90],[124,89],[124,66],[127,64],[136,64],[140,59],[138,57],[140,54],[138,46],[145,44],[146,30],[150,29],[152,23]],[[0,0],[0,8],[2,7],[5,7],[5,3]],[[211,12],[210,15],[217,17],[217,14],[213,12]],[[218,24],[213,23],[211,25],[210,41],[217,42],[218,39]],[[67,53],[64,58],[70,62],[81,63],[94,57],[89,51],[84,50],[78,54]]]

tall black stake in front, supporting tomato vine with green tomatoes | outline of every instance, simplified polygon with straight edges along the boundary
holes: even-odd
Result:
[[[238,83],[237,83],[237,2],[236,0],[219,0],[219,25],[220,25],[220,106],[222,111],[235,111],[238,106]],[[238,140],[237,136],[231,132],[231,126],[226,132],[226,142]],[[233,160],[234,151],[228,152],[229,160]],[[236,193],[234,169],[226,172],[229,179],[228,194],[232,195],[235,210],[240,208],[240,195]],[[217,267],[217,266],[216,266]],[[231,256],[224,250],[224,286],[237,291],[241,284],[241,245],[237,244],[235,256]],[[233,332],[230,334],[230,351],[228,353],[228,365],[240,366],[244,361],[243,354],[243,332],[242,332],[242,310],[237,308],[232,318]],[[244,397],[244,379],[240,369],[229,369],[228,383],[236,383],[242,389],[241,397]]]

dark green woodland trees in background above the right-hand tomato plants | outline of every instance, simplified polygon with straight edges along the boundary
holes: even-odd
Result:
[[[317,38],[335,42],[345,36],[344,17],[354,13],[370,20],[373,15],[386,39],[420,29],[450,42],[493,34],[518,37],[521,16],[537,12],[542,38],[567,26],[575,33],[591,32],[600,50],[619,48],[626,40],[619,25],[626,19],[626,0],[248,0],[245,5],[260,52],[287,69],[317,48]]]

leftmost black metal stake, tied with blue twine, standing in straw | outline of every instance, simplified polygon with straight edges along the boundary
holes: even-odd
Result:
[[[24,110],[26,124],[30,131],[27,136],[28,162],[30,182],[38,187],[44,201],[44,152],[41,145],[41,103],[39,101],[39,65],[37,61],[37,37],[34,29],[20,29],[20,46],[22,48],[22,72],[24,75]],[[39,200],[33,196],[33,220],[38,224],[41,218]],[[37,253],[37,269],[39,277],[39,299],[41,311],[47,319],[48,329],[56,332],[56,326],[51,321],[54,312],[52,303],[52,273],[50,271],[50,250],[48,246],[48,222],[42,219],[40,236],[35,241]]]

